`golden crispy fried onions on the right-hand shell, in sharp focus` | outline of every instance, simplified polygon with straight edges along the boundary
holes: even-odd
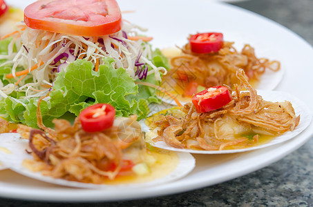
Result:
[[[158,137],[175,148],[224,150],[245,148],[259,141],[262,135],[278,135],[294,130],[300,121],[289,101],[265,101],[247,81],[245,72],[237,70],[240,86],[234,86],[232,101],[218,110],[196,112],[192,103],[185,104],[182,117],[156,115],[152,128],[158,127]],[[240,91],[247,88],[248,92]]]

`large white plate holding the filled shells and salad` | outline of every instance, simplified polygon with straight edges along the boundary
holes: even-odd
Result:
[[[18,5],[21,1],[11,2]],[[23,1],[23,4],[26,2]],[[153,36],[153,45],[160,48],[182,45],[191,32],[214,30],[231,34],[234,39],[245,35],[256,48],[267,50],[264,46],[271,46],[279,51],[279,60],[286,68],[278,90],[298,97],[313,110],[313,96],[309,94],[313,77],[313,49],[278,23],[234,6],[204,0],[194,0],[192,6],[190,0],[123,0],[119,3],[122,10],[137,10],[135,14],[125,14],[124,18],[149,28],[147,35]],[[269,148],[229,155],[196,155],[196,168],[184,179],[136,190],[64,188],[22,177],[10,170],[1,170],[0,195],[46,201],[117,201],[180,193],[218,184],[268,166],[305,144],[312,134],[311,123],[294,139]]]

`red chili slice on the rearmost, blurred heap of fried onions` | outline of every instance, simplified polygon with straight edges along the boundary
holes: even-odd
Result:
[[[195,53],[218,52],[222,48],[222,33],[209,32],[192,35],[189,39],[191,51]]]

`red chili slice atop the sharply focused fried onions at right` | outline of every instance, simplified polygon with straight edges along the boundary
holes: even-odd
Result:
[[[225,86],[214,86],[198,92],[191,100],[196,111],[204,113],[225,106],[231,101],[231,94]]]

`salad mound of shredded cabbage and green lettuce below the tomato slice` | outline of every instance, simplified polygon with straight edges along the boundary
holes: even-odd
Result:
[[[57,7],[57,2],[51,4]],[[64,19],[53,19],[57,21]],[[68,112],[77,116],[94,103],[110,103],[117,116],[145,118],[149,103],[160,99],[154,88],[136,83],[159,86],[169,65],[160,50],[152,50],[150,37],[140,37],[140,31],[129,21],[121,30],[101,36],[17,23],[17,30],[0,41],[0,117],[37,127],[37,101],[46,96],[41,111],[48,126],[54,118]]]

